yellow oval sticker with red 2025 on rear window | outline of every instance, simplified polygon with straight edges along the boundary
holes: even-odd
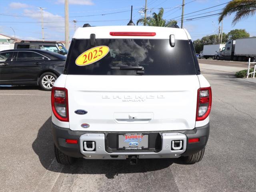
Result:
[[[97,46],[87,50],[80,54],[80,56],[76,59],[76,65],[78,66],[85,66],[90,65],[104,56],[106,56],[109,52],[108,46]]]

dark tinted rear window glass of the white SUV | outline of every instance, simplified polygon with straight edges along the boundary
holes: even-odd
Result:
[[[92,64],[76,64],[79,56],[97,46],[107,46],[108,54]],[[88,61],[85,58],[84,61]],[[136,75],[136,70],[116,69],[131,66],[142,66],[144,75],[196,74],[189,41],[176,40],[175,46],[171,47],[169,39],[96,39],[95,46],[91,46],[88,39],[74,39],[65,69],[66,74]]]

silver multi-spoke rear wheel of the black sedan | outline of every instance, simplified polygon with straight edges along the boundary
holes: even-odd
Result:
[[[43,90],[50,91],[56,79],[57,76],[54,73],[45,72],[40,76],[38,84]]]

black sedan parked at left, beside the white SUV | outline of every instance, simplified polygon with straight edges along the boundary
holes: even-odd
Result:
[[[64,70],[66,56],[38,49],[0,52],[0,85],[39,85],[51,90]]]

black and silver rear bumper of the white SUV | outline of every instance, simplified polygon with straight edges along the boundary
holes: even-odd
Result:
[[[163,132],[147,132],[153,136],[158,134],[160,136],[160,147],[152,144],[152,150],[147,151],[118,151],[110,148],[107,136],[117,134],[116,132],[86,132],[86,131],[72,131],[67,128],[61,128],[52,124],[52,134],[54,144],[64,154],[71,157],[84,157],[91,159],[126,159],[130,155],[136,155],[139,158],[178,158],[180,156],[188,156],[202,150],[208,141],[210,131],[210,124],[194,128],[193,130],[179,130],[179,131],[163,131]],[[143,132],[145,133],[145,132]],[[199,138],[199,142],[188,143],[190,138]],[[78,140],[78,144],[68,144],[66,139]],[[172,140],[182,140],[183,146],[180,150],[172,150]],[[94,141],[95,150],[85,151],[84,142]],[[113,141],[116,143],[116,141]],[[115,144],[112,144],[112,146]]]

